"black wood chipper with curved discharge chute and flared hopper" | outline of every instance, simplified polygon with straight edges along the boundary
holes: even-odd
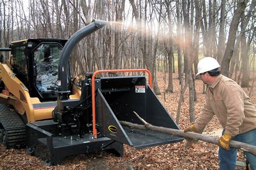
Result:
[[[98,70],[87,73],[76,82],[70,77],[72,49],[81,39],[106,24],[102,20],[93,20],[65,43],[58,64],[57,101],[37,104],[37,109],[40,105],[47,108],[48,103],[51,108],[56,106],[52,110],[52,119],[28,121],[26,124],[26,151],[44,160],[45,164],[57,165],[70,155],[102,150],[122,156],[124,144],[146,148],[183,140],[170,134],[129,129],[119,123],[143,124],[134,115],[135,111],[152,125],[179,129],[153,93],[149,70]],[[144,72],[146,76],[102,76],[110,72]],[[148,81],[146,77],[149,77]],[[73,94],[70,87],[74,83],[80,87],[78,98],[70,97]]]

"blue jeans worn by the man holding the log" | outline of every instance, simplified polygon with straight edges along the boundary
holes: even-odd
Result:
[[[225,130],[223,130],[224,133]],[[256,129],[248,131],[243,134],[238,134],[232,140],[241,141],[247,144],[256,146]],[[245,152],[246,159],[250,163],[251,169],[256,169],[256,156]],[[235,163],[237,162],[237,148],[231,147],[229,151],[219,147],[219,166],[220,169],[235,169]]]

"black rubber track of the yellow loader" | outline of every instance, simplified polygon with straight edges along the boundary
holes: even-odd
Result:
[[[26,126],[16,112],[10,111],[9,104],[0,104],[0,124],[7,132],[6,148],[24,147],[26,142]]]

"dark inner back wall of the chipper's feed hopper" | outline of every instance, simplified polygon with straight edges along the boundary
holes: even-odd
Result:
[[[142,124],[133,111],[136,111],[140,117],[146,118],[146,94],[136,93],[135,86],[145,86],[147,88],[146,78],[144,76],[110,78],[102,80],[101,91],[104,91],[104,98],[117,119],[119,121]],[[107,89],[109,91],[106,91]]]

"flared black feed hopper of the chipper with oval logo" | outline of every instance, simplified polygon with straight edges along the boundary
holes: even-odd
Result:
[[[129,72],[131,70],[109,70]],[[134,71],[134,70],[132,70]],[[151,76],[150,72],[146,70]],[[98,71],[107,72],[106,70]],[[151,77],[150,77],[151,81]],[[170,134],[130,129],[119,121],[143,124],[134,115],[136,111],[146,122],[154,126],[179,129],[171,116],[159,102],[145,76],[104,77],[96,81],[96,122],[105,137],[135,148],[145,148],[182,141],[182,137]],[[93,90],[93,89],[92,89]]]

